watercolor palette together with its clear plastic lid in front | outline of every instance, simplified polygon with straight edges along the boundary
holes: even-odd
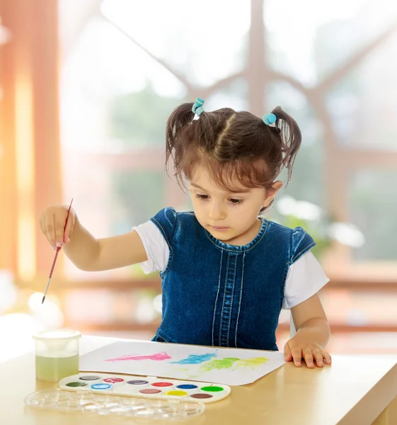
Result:
[[[199,416],[205,404],[230,395],[228,385],[117,373],[79,373],[57,390],[27,395],[28,407],[121,419],[180,420]]]

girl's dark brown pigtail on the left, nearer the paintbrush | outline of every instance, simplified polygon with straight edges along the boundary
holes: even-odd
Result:
[[[168,117],[166,123],[166,170],[168,170],[170,157],[172,157],[175,166],[179,165],[176,162],[181,157],[178,153],[183,151],[183,145],[178,144],[178,137],[180,132],[195,118],[195,113],[192,112],[193,105],[194,103],[182,103]]]

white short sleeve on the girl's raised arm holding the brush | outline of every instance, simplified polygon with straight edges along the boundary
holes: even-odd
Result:
[[[150,220],[133,227],[133,230],[139,234],[146,251],[147,260],[139,263],[144,273],[163,271],[168,263],[170,249],[159,228]]]

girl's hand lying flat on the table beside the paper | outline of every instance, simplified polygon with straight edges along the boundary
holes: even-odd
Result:
[[[314,362],[319,368],[322,368],[324,363],[330,365],[330,354],[323,350],[321,346],[312,341],[305,329],[299,331],[292,339],[287,341],[284,346],[284,361],[294,361],[294,364],[300,368],[302,358],[306,362],[308,368],[314,368]]]

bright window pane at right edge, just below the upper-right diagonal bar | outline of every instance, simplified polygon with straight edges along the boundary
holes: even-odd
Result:
[[[397,150],[397,32],[333,87],[327,107],[340,145]]]

